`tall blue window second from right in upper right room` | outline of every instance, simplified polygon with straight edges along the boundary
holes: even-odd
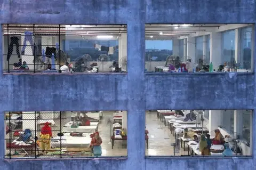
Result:
[[[235,60],[235,30],[225,31],[221,34],[221,63],[231,66]]]

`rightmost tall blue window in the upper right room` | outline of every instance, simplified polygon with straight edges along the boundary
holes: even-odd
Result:
[[[239,30],[240,33],[240,54],[238,55],[239,69],[251,69],[252,66],[252,27]]]

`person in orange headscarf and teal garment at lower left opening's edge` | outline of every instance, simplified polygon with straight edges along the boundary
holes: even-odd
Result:
[[[101,156],[102,151],[101,151],[101,137],[99,132],[95,132],[94,135],[91,136],[91,144],[90,147],[92,148],[93,156]]]

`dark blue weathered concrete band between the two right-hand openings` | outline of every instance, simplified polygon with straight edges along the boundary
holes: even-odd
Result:
[[[253,109],[253,74],[147,74],[146,108]]]

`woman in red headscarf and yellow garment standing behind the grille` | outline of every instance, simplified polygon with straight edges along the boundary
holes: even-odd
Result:
[[[43,152],[48,152],[51,149],[51,137],[52,137],[52,128],[49,126],[49,123],[46,122],[44,127],[42,127],[41,135],[39,139],[39,147]]]

